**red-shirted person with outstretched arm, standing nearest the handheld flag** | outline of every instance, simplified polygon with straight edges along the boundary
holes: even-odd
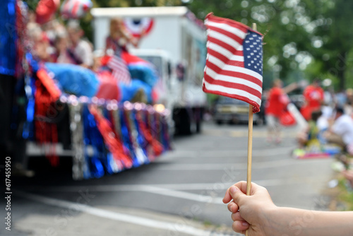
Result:
[[[282,88],[282,85],[283,83],[280,79],[275,79],[273,81],[273,88],[268,92],[268,99],[265,105],[268,143],[275,141],[278,144],[281,142],[280,117],[289,103],[287,93],[297,88],[297,83],[291,83],[285,88]]]

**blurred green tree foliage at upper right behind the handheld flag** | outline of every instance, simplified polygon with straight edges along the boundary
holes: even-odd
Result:
[[[337,78],[340,88],[345,88],[346,76],[353,77],[348,67],[353,1],[206,0],[193,1],[189,7],[199,18],[213,12],[246,25],[257,23],[265,35],[264,71],[272,71],[273,77],[302,76],[293,72],[307,71],[311,78]]]

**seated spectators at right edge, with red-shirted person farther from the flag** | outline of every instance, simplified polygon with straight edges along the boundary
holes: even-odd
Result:
[[[306,104],[301,112],[309,125],[299,134],[299,143],[301,146],[316,143],[314,145],[339,147],[341,151],[335,156],[337,160],[344,160],[342,174],[353,187],[353,90],[333,93],[315,80],[304,90],[304,98]]]

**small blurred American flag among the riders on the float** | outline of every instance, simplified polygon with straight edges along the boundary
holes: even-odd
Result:
[[[128,66],[126,62],[121,59],[119,54],[114,54],[108,61],[107,66],[112,69],[112,75],[116,78],[116,81],[129,84],[131,83],[130,72],[128,72]]]

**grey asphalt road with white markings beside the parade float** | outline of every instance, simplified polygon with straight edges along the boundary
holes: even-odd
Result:
[[[295,129],[280,146],[253,130],[253,182],[278,206],[321,207],[331,160],[294,160]],[[174,151],[150,165],[73,182],[70,162],[13,180],[11,232],[1,235],[236,235],[221,199],[246,179],[247,126],[206,124],[203,134],[176,138]],[[65,165],[66,164],[66,165]],[[32,165],[37,167],[33,160]]]

